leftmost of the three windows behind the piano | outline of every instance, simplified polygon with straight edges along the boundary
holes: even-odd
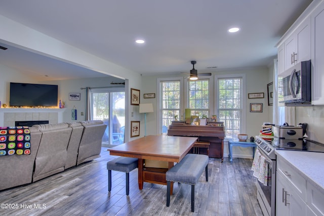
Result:
[[[174,78],[173,80],[158,79],[159,84],[159,125],[160,133],[167,133],[169,125],[177,115],[180,118],[182,108],[182,79]]]

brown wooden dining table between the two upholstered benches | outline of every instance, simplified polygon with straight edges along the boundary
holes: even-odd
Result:
[[[138,187],[142,190],[144,182],[166,185],[167,170],[174,162],[181,161],[196,140],[196,137],[150,135],[109,148],[109,152],[110,155],[138,158]],[[168,168],[145,167],[145,159],[167,161],[169,165]]]

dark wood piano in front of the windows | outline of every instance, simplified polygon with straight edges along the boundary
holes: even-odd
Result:
[[[222,158],[225,129],[223,122],[209,122],[206,126],[185,124],[184,121],[172,121],[168,128],[169,136],[198,137],[198,141],[210,142],[209,157]],[[207,153],[202,152],[202,153]]]

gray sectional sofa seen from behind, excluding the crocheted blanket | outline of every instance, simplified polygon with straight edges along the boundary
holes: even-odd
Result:
[[[0,156],[0,190],[29,184],[100,157],[101,120],[39,124],[30,129],[30,155]]]

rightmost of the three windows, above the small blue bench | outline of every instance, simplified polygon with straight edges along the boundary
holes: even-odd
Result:
[[[237,134],[242,133],[242,125],[245,122],[245,89],[242,82],[245,75],[239,76],[216,76],[217,85],[217,118],[224,122],[225,136],[228,139],[237,139]]]

